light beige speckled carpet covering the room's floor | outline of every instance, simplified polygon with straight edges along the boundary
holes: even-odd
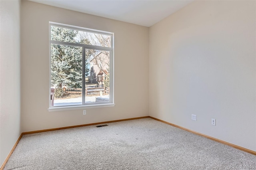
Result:
[[[256,169],[256,156],[154,119],[23,135],[4,170]]]

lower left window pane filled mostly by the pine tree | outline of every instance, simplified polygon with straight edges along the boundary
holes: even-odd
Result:
[[[51,106],[65,105],[82,105],[82,47],[51,44]]]

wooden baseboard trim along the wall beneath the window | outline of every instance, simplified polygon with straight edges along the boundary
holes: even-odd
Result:
[[[48,132],[48,131],[53,131],[53,130],[61,130],[61,129],[67,129],[67,128],[86,127],[86,126],[99,125],[99,124],[105,124],[105,123],[113,123],[113,122],[121,122],[121,121],[130,121],[130,120],[134,120],[134,119],[143,119],[143,118],[150,118],[150,117],[149,117],[149,116],[135,117],[135,118],[129,118],[129,119],[120,119],[120,120],[115,120],[115,121],[106,121],[106,122],[90,123],[90,124],[85,124],[85,125],[75,125],[75,126],[69,126],[69,127],[60,127],[60,128],[50,128],[50,129],[44,129],[44,130],[35,130],[35,131],[30,131],[30,132],[22,132],[22,135],[23,135],[23,134],[40,133],[40,132]]]

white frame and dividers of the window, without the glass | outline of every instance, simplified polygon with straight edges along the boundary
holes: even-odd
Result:
[[[68,28],[72,30],[78,30],[78,31],[85,31],[85,32],[91,32],[96,34],[104,34],[111,36],[111,47],[101,47],[101,46],[95,46],[95,45],[87,45],[87,44],[80,44],[80,43],[70,43],[70,42],[59,42],[55,40],[51,40],[51,26],[57,26],[62,28]],[[84,59],[84,52],[86,49],[96,49],[96,50],[106,50],[110,52],[110,93],[109,93],[109,102],[95,102],[95,103],[85,103],[82,101],[82,105],[63,105],[63,106],[51,106],[51,44],[59,44],[59,45],[74,45],[82,47],[83,50],[83,61]],[[112,32],[105,32],[100,30],[93,30],[89,28],[82,28],[78,26],[71,26],[67,24],[60,24],[56,22],[49,22],[49,108],[48,111],[65,111],[65,110],[74,110],[74,109],[90,109],[90,108],[98,108],[98,107],[112,107],[114,106],[114,33]],[[84,70],[82,74],[82,96],[84,94],[84,82],[85,82],[85,76],[84,76]],[[86,96],[85,96],[86,97]],[[82,97],[84,99],[84,97]]]

